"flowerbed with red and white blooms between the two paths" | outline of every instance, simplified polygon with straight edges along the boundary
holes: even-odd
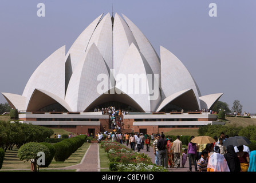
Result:
[[[134,152],[119,142],[101,141],[101,148],[107,152],[111,171],[119,172],[166,172],[164,167],[152,164],[151,157],[144,153]]]

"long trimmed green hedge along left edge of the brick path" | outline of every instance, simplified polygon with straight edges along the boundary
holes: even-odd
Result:
[[[69,156],[74,153],[78,148],[84,144],[87,136],[80,135],[68,139],[64,139],[56,144],[54,144],[54,148],[56,149],[56,153],[54,156],[54,160],[56,161],[65,161],[69,158]]]

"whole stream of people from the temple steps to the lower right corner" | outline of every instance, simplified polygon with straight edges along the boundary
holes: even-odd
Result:
[[[131,146],[132,150],[140,152],[141,149],[147,149],[147,152],[153,152],[155,155],[155,164],[166,168],[184,168],[187,160],[189,172],[192,172],[194,166],[195,172],[255,172],[256,171],[256,150],[250,152],[245,146],[234,147],[223,146],[223,142],[228,138],[225,133],[220,137],[214,137],[215,142],[211,144],[194,144],[191,140],[188,148],[182,148],[180,136],[172,140],[170,136],[164,133],[156,133],[149,136],[143,133],[121,133],[110,132],[98,133],[98,140],[103,139],[105,134],[108,140],[120,142]],[[152,144],[152,146],[151,146]]]

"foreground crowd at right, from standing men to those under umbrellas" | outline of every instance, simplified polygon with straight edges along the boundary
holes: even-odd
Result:
[[[187,149],[182,148],[182,141],[177,136],[175,141],[165,137],[164,134],[156,134],[153,141],[153,152],[155,154],[155,164],[166,168],[184,168],[188,160],[188,172],[255,172],[256,171],[256,151],[250,152],[245,146],[234,147],[223,146],[223,142],[228,138],[225,133],[220,137],[215,137],[212,144],[194,144],[191,137]]]

